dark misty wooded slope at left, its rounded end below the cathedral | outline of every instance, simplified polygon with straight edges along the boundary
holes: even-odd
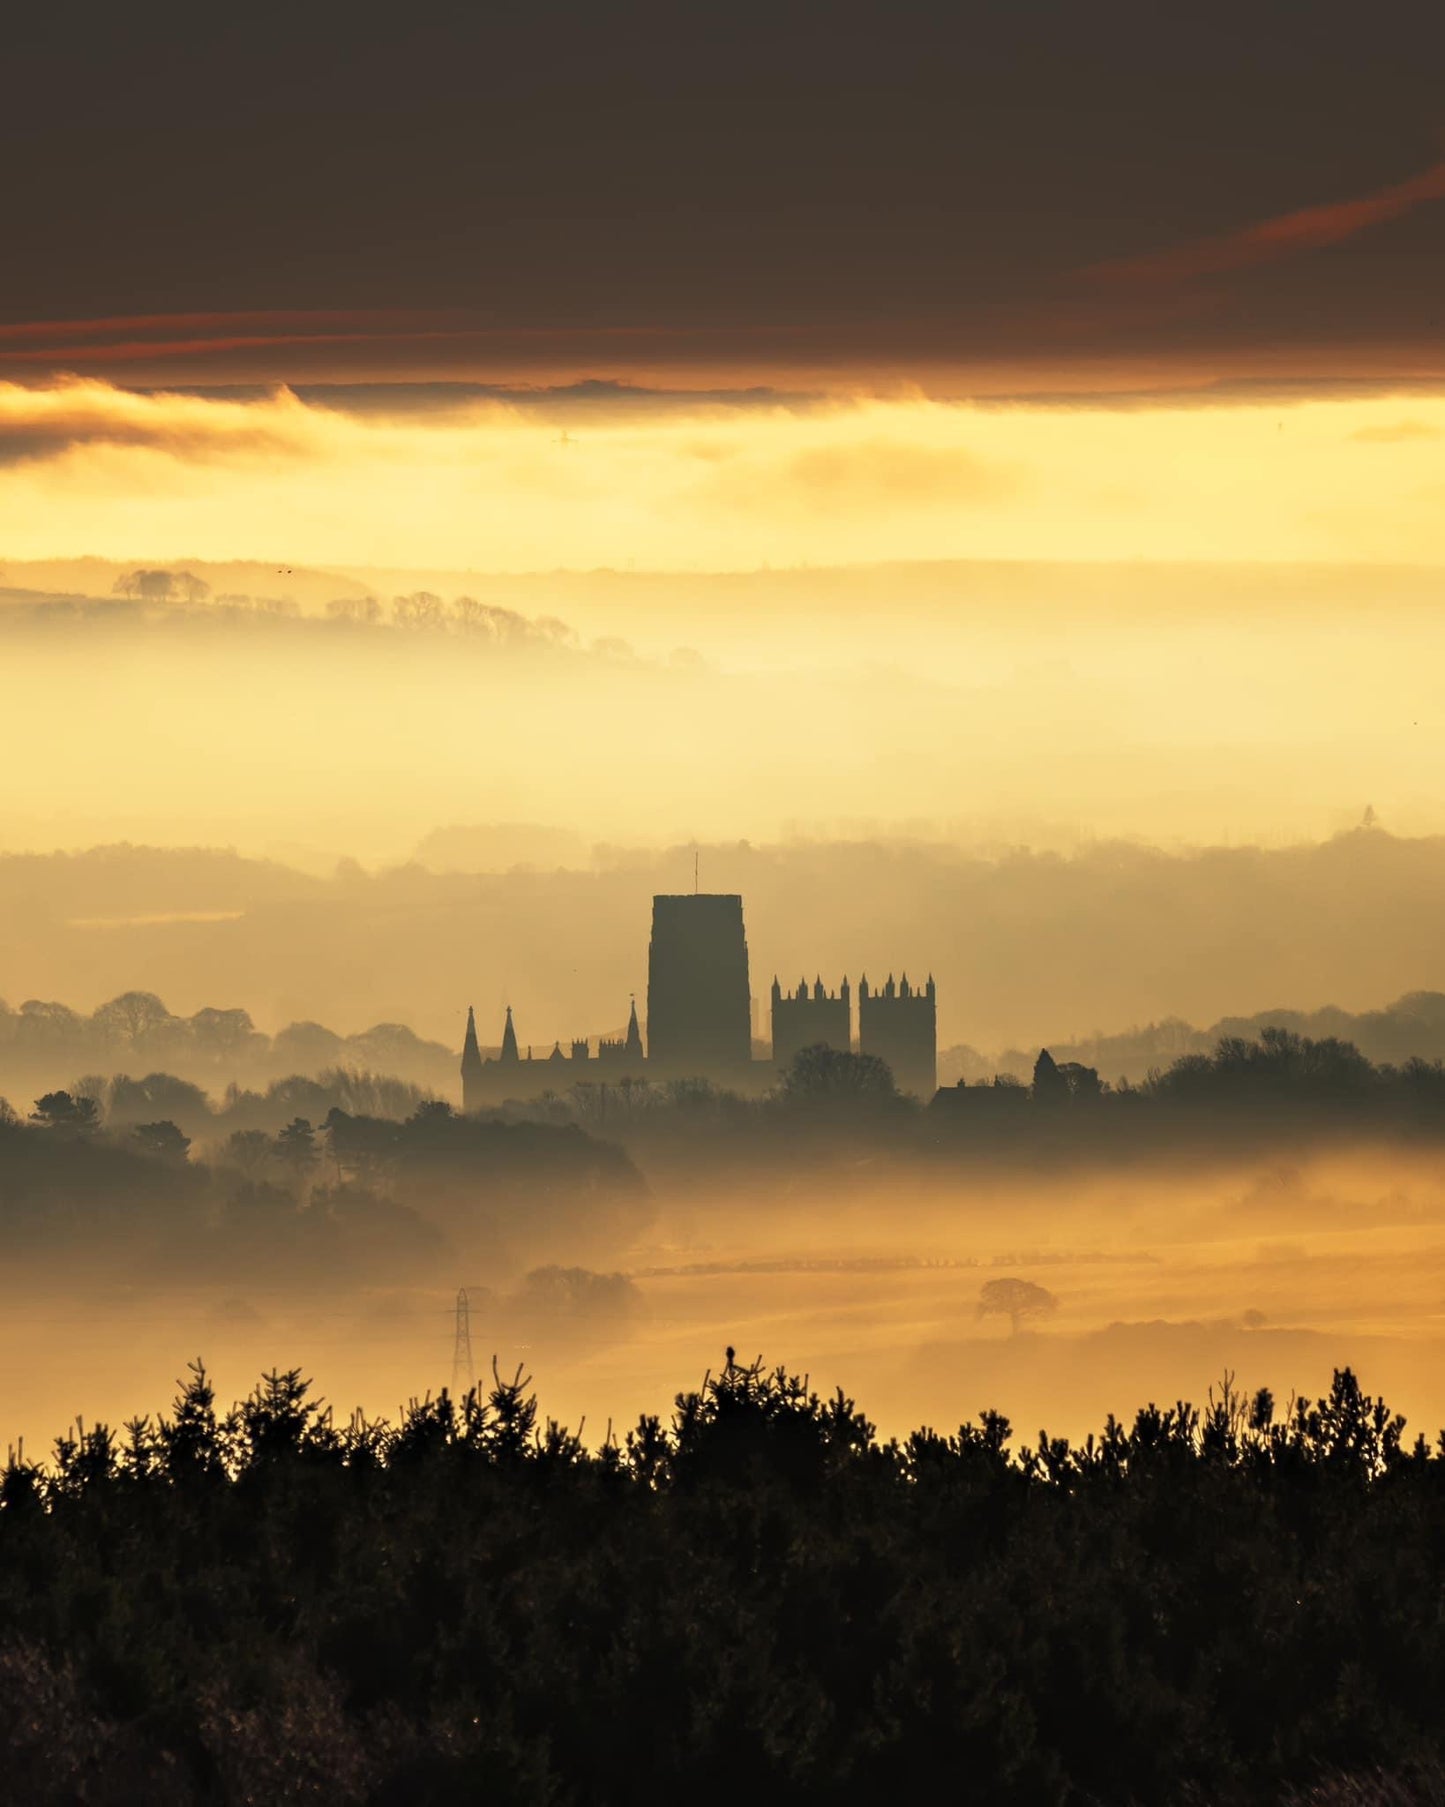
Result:
[[[137,1281],[390,1285],[446,1278],[462,1254],[491,1272],[576,1259],[648,1211],[629,1156],[574,1124],[332,1108],[193,1144],[175,1119],[107,1120],[69,1091],[25,1120],[0,1111],[0,1259],[65,1254]]]

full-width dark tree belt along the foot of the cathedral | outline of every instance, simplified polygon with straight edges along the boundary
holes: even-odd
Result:
[[[448,1249],[589,1258],[650,1216],[667,1184],[771,1182],[890,1160],[1167,1160],[1445,1137],[1445,1064],[1375,1066],[1349,1043],[1264,1030],[1143,1086],[1040,1050],[1030,1086],[941,1090],[927,1106],[876,1059],[804,1050],[762,1097],[704,1082],[582,1084],[462,1117],[374,1075],[293,1075],[215,1109],[166,1073],[0,1104],[0,1250],[116,1245],[168,1267],[341,1279],[374,1258],[419,1278]],[[858,1169],[862,1171],[862,1169]],[[542,1250],[526,1247],[544,1238]],[[545,1245],[547,1236],[562,1238]],[[582,1238],[573,1247],[567,1236]]]

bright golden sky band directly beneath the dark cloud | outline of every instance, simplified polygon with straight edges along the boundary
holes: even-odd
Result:
[[[0,385],[11,558],[480,571],[934,558],[1438,564],[1445,396],[923,398],[361,417]]]

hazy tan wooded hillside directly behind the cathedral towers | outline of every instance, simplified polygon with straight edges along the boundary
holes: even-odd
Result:
[[[755,1034],[766,994],[822,974],[939,983],[939,1046],[1080,1041],[1264,1010],[1376,1010],[1445,988],[1445,837],[1351,828],[1282,847],[968,847],[795,838],[591,847],[536,824],[435,829],[399,866],[305,871],[204,847],[0,853],[0,997],[90,1010],[126,990],[275,1032],[405,1023],[461,1046],[509,1003],[542,1052],[612,1034],[647,976],[650,900],[737,891]],[[1051,923],[1048,945],[1039,925]]]

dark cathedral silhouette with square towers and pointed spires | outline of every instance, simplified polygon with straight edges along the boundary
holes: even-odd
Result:
[[[484,1057],[477,1017],[466,1012],[462,1046],[462,1109],[477,1111],[509,1099],[536,1099],[576,1084],[704,1079],[735,1091],[757,1091],[786,1072],[804,1048],[871,1053],[892,1070],[900,1091],[932,1099],[937,1090],[937,999],[932,974],[923,988],[909,976],[869,988],[858,983],[858,1032],[853,992],[844,979],[834,992],[815,979],[771,994],[771,1057],[757,1057],[751,1037],[751,987],[742,898],[730,893],[654,896],[647,950],[647,1048],[638,1005],[627,1034],[553,1043],[549,1053],[520,1052],[511,1006],[499,1053]]]

